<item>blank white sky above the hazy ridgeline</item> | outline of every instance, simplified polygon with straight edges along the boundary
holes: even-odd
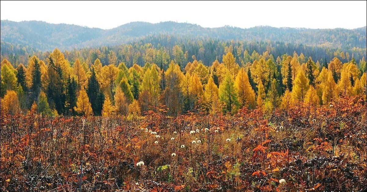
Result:
[[[0,18],[112,29],[145,21],[203,27],[355,29],[367,24],[367,1],[0,1]]]

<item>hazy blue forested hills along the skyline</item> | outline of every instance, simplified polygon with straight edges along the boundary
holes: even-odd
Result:
[[[287,23],[284,23],[286,26]],[[1,42],[26,46],[33,50],[112,46],[157,34],[178,35],[188,39],[280,41],[308,46],[351,49],[366,48],[366,26],[357,29],[305,29],[258,26],[248,29],[224,26],[203,28],[177,22],[131,22],[117,28],[103,30],[68,24],[41,21],[13,22],[1,20]]]

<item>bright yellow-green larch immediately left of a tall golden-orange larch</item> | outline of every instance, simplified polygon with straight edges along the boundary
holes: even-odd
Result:
[[[219,84],[219,99],[225,104],[224,112],[232,113],[233,109],[239,105],[237,90],[231,73],[227,73],[222,83]]]

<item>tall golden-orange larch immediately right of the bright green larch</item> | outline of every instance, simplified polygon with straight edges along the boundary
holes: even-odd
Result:
[[[255,108],[255,92],[252,90],[251,84],[248,80],[247,73],[244,68],[241,68],[237,74],[235,86],[237,88],[237,95],[240,106],[247,108]]]

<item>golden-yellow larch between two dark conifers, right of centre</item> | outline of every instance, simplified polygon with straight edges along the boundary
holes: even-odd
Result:
[[[294,98],[299,102],[303,101],[309,87],[309,80],[307,79],[305,73],[303,70],[299,70],[297,77],[294,80],[294,87],[292,90]]]

